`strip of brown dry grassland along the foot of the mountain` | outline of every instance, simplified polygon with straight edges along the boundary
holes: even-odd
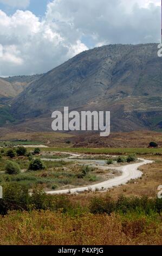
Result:
[[[13,127],[13,130],[15,128]],[[113,132],[108,137],[100,137],[98,133],[61,133],[61,132],[13,132],[10,127],[0,128],[0,139],[28,139],[28,141],[40,141],[47,144],[50,141],[49,147],[57,147],[67,144],[65,141],[70,139],[70,147],[89,147],[89,148],[147,148],[151,141],[158,143],[159,147],[162,146],[161,132],[153,131],[132,131],[132,132]]]

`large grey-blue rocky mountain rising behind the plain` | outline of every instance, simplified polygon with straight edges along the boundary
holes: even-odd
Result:
[[[31,82],[11,101],[10,112],[20,129],[49,131],[51,113],[69,106],[111,111],[113,131],[160,130],[161,64],[157,44],[94,48]]]

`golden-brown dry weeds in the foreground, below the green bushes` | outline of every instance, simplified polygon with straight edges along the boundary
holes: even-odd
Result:
[[[0,217],[1,245],[160,245],[161,223],[118,215],[70,217],[60,212],[10,212]]]

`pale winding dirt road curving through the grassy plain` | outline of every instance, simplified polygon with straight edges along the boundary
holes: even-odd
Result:
[[[69,153],[68,153],[69,154]],[[73,156],[75,154],[72,154]],[[76,156],[76,155],[75,155]],[[79,156],[79,155],[77,155]],[[67,157],[66,159],[62,159],[63,161],[73,161],[72,157]],[[46,161],[58,161],[56,159],[42,159]],[[132,164],[127,164],[125,166],[119,166],[119,167],[108,167],[105,163],[105,160],[81,160],[81,159],[75,159],[74,161],[80,164],[85,164],[85,165],[90,165],[93,167],[98,167],[100,169],[115,169],[115,170],[120,170],[121,175],[117,176],[113,179],[109,179],[103,182],[100,182],[98,184],[90,185],[90,186],[85,186],[85,187],[76,187],[70,189],[70,193],[81,193],[86,190],[91,190],[95,191],[96,189],[98,190],[108,190],[108,188],[112,188],[114,186],[119,186],[119,185],[124,185],[126,184],[129,180],[131,179],[138,179],[142,176],[142,172],[138,170],[138,168],[144,164],[152,163],[153,161],[151,160],[145,160],[145,159],[139,159],[141,162],[138,163],[132,163]],[[66,190],[56,190],[56,191],[48,191],[48,194],[65,194],[69,193],[69,189]]]

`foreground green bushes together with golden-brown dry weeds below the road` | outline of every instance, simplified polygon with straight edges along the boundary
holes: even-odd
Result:
[[[113,200],[106,194],[81,206],[40,187],[30,196],[27,187],[6,184],[0,200],[0,244],[160,245],[161,210],[158,198]]]

